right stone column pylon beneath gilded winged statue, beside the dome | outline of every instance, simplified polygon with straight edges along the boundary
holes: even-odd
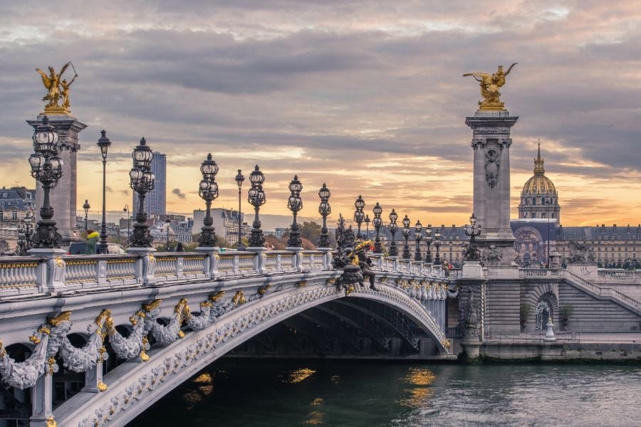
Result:
[[[474,135],[474,213],[483,233],[476,243],[489,266],[514,266],[510,227],[510,129],[518,117],[507,110],[477,110],[465,124]]]

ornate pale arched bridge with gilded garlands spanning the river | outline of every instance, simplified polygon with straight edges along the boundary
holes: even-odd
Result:
[[[377,290],[343,290],[330,254],[205,248],[0,258],[0,376],[10,386],[0,416],[124,426],[279,323],[383,353],[456,357],[444,332],[446,300],[457,292],[441,266],[372,255]]]

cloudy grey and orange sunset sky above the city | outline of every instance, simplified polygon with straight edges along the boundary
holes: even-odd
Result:
[[[0,185],[33,186],[25,120],[46,92],[35,68],[69,60],[71,110],[88,125],[78,206],[100,205],[105,129],[108,211],[131,203],[144,136],[167,154],[168,211],[204,206],[211,152],[217,207],[236,206],[236,170],[259,164],[265,214],[288,214],[298,174],[301,216],[318,217],[325,182],[331,222],[362,194],[370,217],[379,201],[384,217],[460,225],[472,196],[464,121],[480,98],[462,74],[518,63],[501,90],[519,117],[513,217],[540,140],[564,226],[641,222],[640,1],[2,1]]]

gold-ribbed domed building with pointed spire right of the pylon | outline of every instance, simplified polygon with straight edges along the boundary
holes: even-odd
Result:
[[[558,205],[558,193],[551,179],[543,168],[545,161],[541,158],[541,144],[538,144],[538,155],[534,160],[534,175],[523,185],[521,204],[518,205],[519,219],[553,219],[559,223],[561,206]]]

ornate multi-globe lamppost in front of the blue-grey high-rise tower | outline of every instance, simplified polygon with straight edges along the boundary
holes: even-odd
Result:
[[[130,248],[151,248],[154,241],[147,225],[147,212],[145,212],[145,195],[154,189],[155,176],[151,172],[153,153],[147,147],[147,140],[140,139],[133,150],[131,157],[133,167],[129,172],[130,187],[138,194],[138,209],[136,211],[136,222],[134,229],[129,236]]]

